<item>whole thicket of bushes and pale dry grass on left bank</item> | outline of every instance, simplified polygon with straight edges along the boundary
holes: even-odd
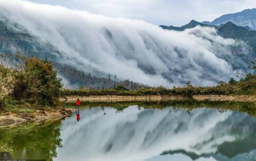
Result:
[[[22,104],[40,108],[58,104],[62,84],[51,62],[4,54],[0,60],[0,108],[22,107]]]

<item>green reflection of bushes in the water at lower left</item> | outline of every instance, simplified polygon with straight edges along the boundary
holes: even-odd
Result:
[[[57,148],[62,147],[60,125],[57,121],[0,129],[0,152],[46,152],[51,161],[57,157]]]

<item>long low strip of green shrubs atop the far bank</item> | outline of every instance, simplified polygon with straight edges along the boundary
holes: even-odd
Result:
[[[256,95],[256,75],[247,74],[240,81],[230,79],[229,83],[220,82],[215,87],[194,87],[189,83],[186,87],[145,87],[136,91],[121,91],[115,89],[88,89],[70,90],[63,89],[62,96],[93,96],[93,95],[121,95],[121,96],[145,96],[145,95]]]

